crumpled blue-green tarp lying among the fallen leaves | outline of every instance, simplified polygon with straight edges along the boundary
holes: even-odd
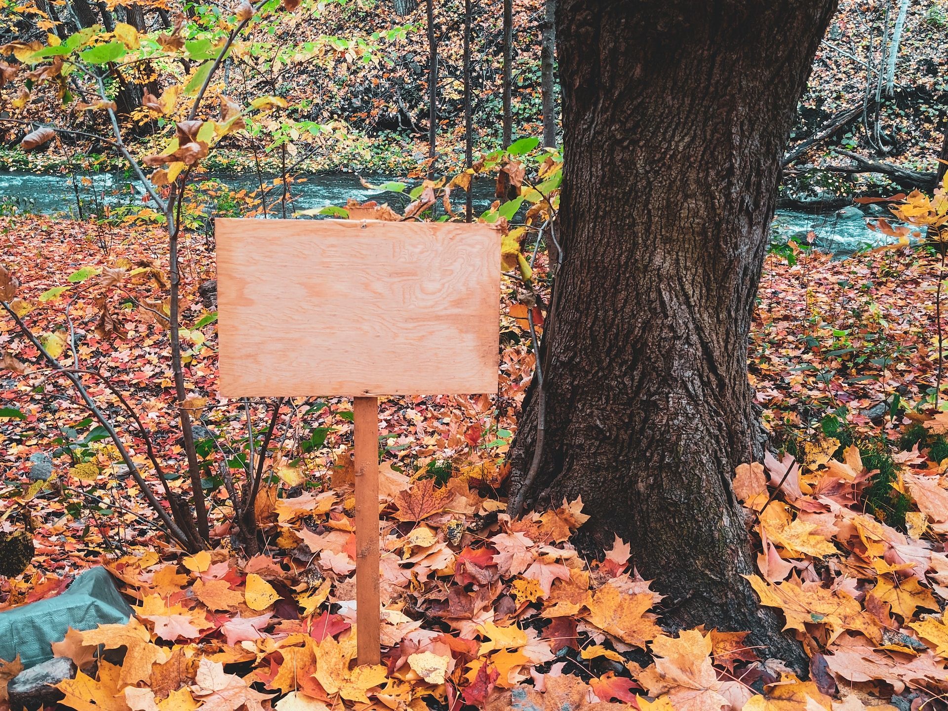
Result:
[[[112,575],[102,567],[78,575],[62,594],[0,612],[0,659],[20,655],[28,668],[52,659],[50,645],[66,630],[95,629],[128,622],[132,608],[118,593]]]

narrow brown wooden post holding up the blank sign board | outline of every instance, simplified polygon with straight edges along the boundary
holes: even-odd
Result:
[[[380,656],[378,398],[353,399],[356,465],[356,645],[360,665]]]

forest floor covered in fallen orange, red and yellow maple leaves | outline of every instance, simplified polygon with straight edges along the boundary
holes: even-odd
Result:
[[[164,244],[152,228],[0,218],[17,310],[47,348],[124,393],[174,476],[186,466],[168,425]],[[241,452],[244,410],[216,394],[214,309],[197,291],[214,277],[210,241],[191,237],[183,264],[191,408],[222,451]],[[119,273],[118,295],[76,299]],[[806,648],[810,681],[760,658],[739,631],[663,630],[662,591],[637,576],[635,551],[620,539],[597,559],[574,549],[581,501],[506,517],[503,456],[533,364],[506,293],[496,395],[381,404],[382,665],[355,663],[349,401],[281,410],[258,505],[264,555],[229,545],[209,468],[221,545],[184,556],[155,535],[114,447],[94,436],[75,393],[36,367],[10,319],[0,353],[26,373],[0,371],[0,496],[8,527],[28,516],[36,556],[0,582],[0,608],[57,593],[91,565],[121,581],[137,606],[129,625],[70,631],[56,647],[89,674],[61,687],[75,709],[944,708],[948,415],[923,414],[938,370],[938,282],[924,248],[843,261],[801,251],[795,264],[765,265],[749,362],[773,452],[739,467],[735,491],[757,551],[751,582]],[[149,466],[118,400],[86,381]],[[252,417],[264,426],[264,403]],[[53,477],[34,483],[43,455]],[[127,647],[124,662],[90,668],[99,644]],[[16,666],[0,665],[0,708]]]

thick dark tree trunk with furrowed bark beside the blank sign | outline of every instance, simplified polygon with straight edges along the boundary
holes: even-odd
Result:
[[[749,629],[805,657],[741,574],[731,477],[762,455],[747,334],[780,158],[834,0],[560,0],[566,156],[529,501],[582,497],[631,542],[671,627]],[[528,479],[535,382],[512,453]],[[512,501],[515,497],[512,497]]]

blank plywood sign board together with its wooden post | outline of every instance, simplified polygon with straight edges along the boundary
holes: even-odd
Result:
[[[379,661],[378,396],[496,392],[483,224],[215,221],[221,394],[354,398],[358,663]]]

